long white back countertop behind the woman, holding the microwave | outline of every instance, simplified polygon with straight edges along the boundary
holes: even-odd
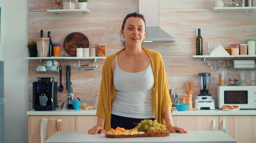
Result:
[[[55,110],[55,111],[27,111],[29,116],[93,116],[96,114],[96,110]],[[216,110],[199,110],[199,111],[177,111],[174,109],[173,116],[175,115],[256,115],[256,110],[239,110],[239,111],[223,111]]]

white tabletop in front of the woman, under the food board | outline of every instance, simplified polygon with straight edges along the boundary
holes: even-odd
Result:
[[[171,133],[168,137],[107,138],[105,134],[88,132],[56,132],[45,143],[236,143],[222,131],[189,131]]]

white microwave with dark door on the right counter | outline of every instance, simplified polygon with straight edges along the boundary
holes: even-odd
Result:
[[[239,106],[240,109],[256,109],[256,86],[218,86],[217,107]]]

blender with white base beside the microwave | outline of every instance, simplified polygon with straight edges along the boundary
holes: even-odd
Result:
[[[209,94],[209,87],[211,82],[210,73],[199,73],[198,82],[200,86],[200,94],[195,99],[195,108],[214,110],[215,104],[212,95]]]

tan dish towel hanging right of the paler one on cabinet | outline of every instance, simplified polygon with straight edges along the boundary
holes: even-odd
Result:
[[[58,122],[58,119],[48,119],[46,139],[49,139],[49,137],[52,137],[53,134],[60,131],[61,131],[61,122]]]

